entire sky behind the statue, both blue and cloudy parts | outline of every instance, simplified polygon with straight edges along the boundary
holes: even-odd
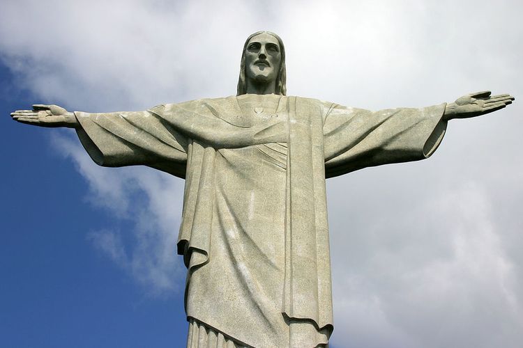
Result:
[[[102,168],[31,104],[144,110],[236,93],[241,47],[285,42],[287,93],[379,110],[511,93],[430,159],[327,181],[331,347],[523,342],[520,1],[2,0],[0,345],[184,347],[183,180]]]

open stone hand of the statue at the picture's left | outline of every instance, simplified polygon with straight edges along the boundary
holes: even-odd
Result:
[[[13,120],[40,127],[79,127],[74,113],[58,105],[33,105],[33,110],[17,110],[11,113]]]

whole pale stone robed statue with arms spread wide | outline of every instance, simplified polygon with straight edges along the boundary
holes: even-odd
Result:
[[[188,268],[188,347],[326,347],[333,332],[325,179],[432,155],[447,121],[497,111],[489,91],[371,112],[288,97],[285,48],[243,47],[238,93],[146,111],[33,105],[14,120],[72,127],[100,166],[185,179],[178,253]]]

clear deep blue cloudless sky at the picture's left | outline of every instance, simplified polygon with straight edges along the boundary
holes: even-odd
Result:
[[[6,116],[36,97],[17,88],[5,65],[0,71]],[[64,131],[0,122],[1,346],[173,347],[186,334],[183,292],[151,300],[93,249],[86,232],[128,222],[86,202],[82,177],[50,149],[53,133]]]

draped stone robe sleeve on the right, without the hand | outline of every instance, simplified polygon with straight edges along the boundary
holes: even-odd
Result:
[[[377,112],[331,106],[324,120],[326,177],[430,157],[446,131],[445,106]]]

